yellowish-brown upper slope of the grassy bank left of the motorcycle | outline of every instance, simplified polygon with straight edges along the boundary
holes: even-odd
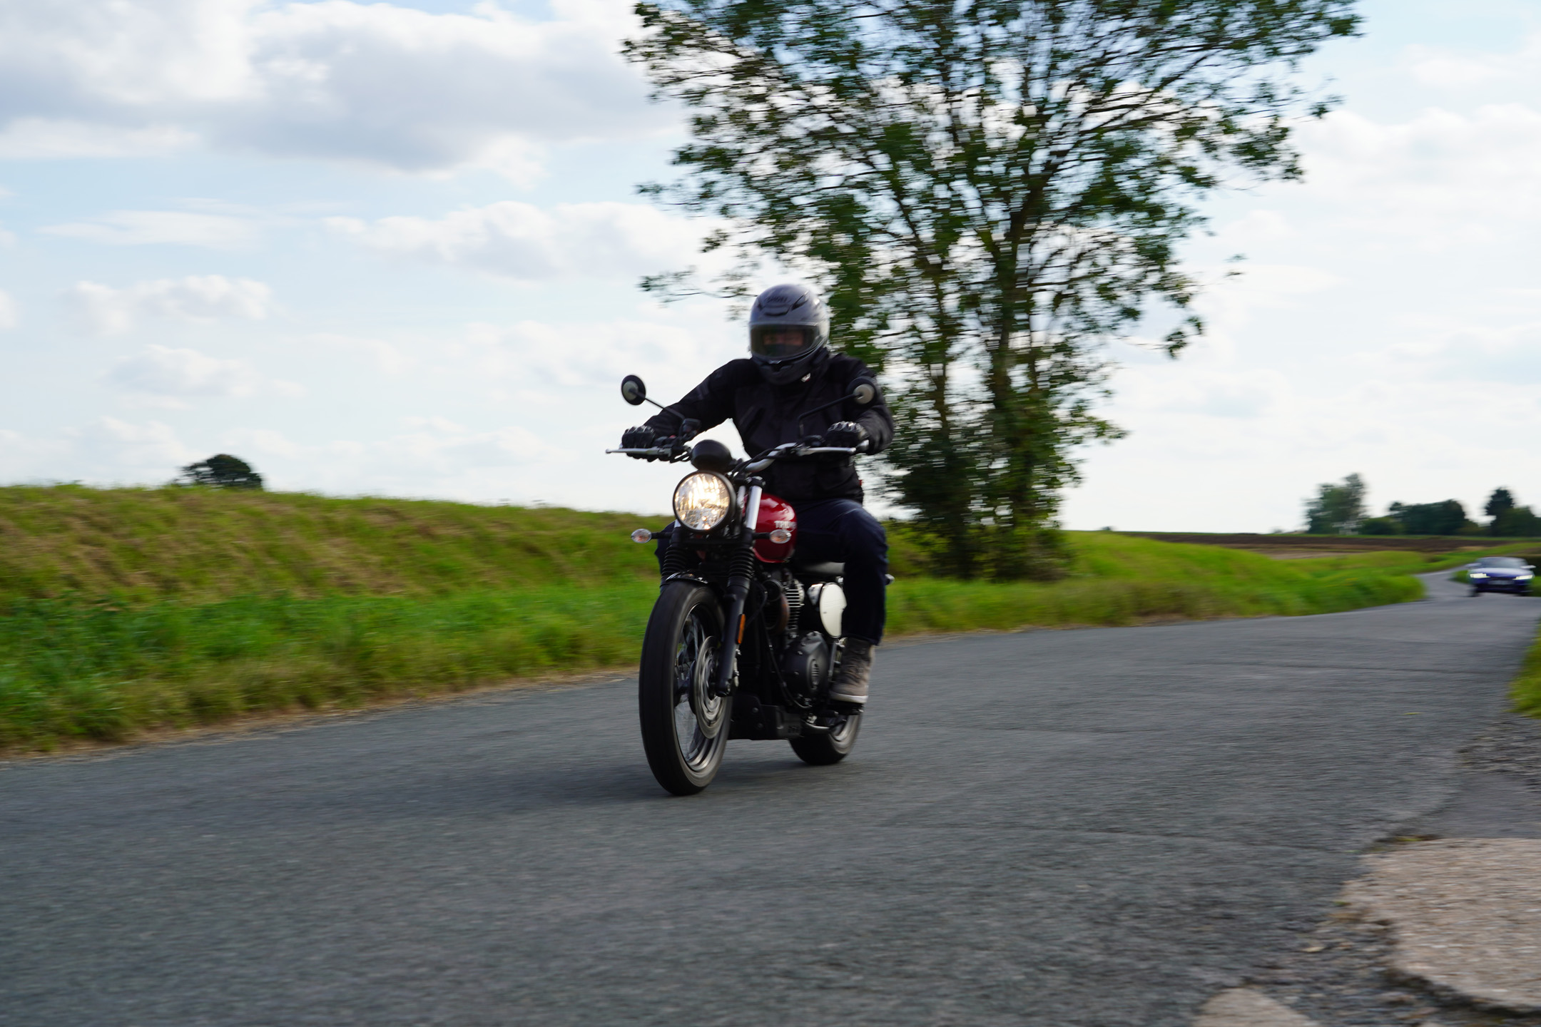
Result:
[[[203,488],[0,488],[0,600],[445,596],[646,580],[664,517]]]

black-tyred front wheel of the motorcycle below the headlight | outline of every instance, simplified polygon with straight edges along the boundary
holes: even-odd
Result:
[[[643,636],[636,676],[647,765],[669,791],[695,795],[712,784],[727,748],[734,701],[713,694],[723,610],[695,582],[669,582]]]

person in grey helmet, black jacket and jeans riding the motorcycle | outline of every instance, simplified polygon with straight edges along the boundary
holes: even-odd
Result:
[[[761,293],[749,311],[749,359],[729,360],[678,403],[621,436],[624,448],[649,448],[680,434],[684,420],[697,431],[729,417],[750,456],[783,442],[857,447],[878,453],[894,439],[894,416],[881,396],[846,419],[837,403],[803,419],[798,414],[851,394],[851,382],[872,377],[855,357],[829,350],[829,308],[806,285],[777,285]],[[846,647],[840,673],[829,688],[837,702],[865,704],[872,676],[872,648],[883,641],[888,536],[861,505],[861,479],[849,456],[777,460],[761,471],[766,491],[797,510],[797,550],[814,560],[846,565]],[[660,536],[658,562],[673,527]]]

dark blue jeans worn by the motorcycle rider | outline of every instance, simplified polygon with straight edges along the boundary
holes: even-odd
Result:
[[[886,616],[888,533],[883,525],[854,499],[800,499],[792,507],[797,510],[798,557],[846,565],[841,584],[846,637],[877,645],[883,641]],[[672,537],[673,525],[658,533],[660,567]]]

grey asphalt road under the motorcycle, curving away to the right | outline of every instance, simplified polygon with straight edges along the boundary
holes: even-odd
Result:
[[[666,796],[615,681],[0,768],[0,1022],[1188,1024],[1453,787],[1541,599],[881,650]]]

